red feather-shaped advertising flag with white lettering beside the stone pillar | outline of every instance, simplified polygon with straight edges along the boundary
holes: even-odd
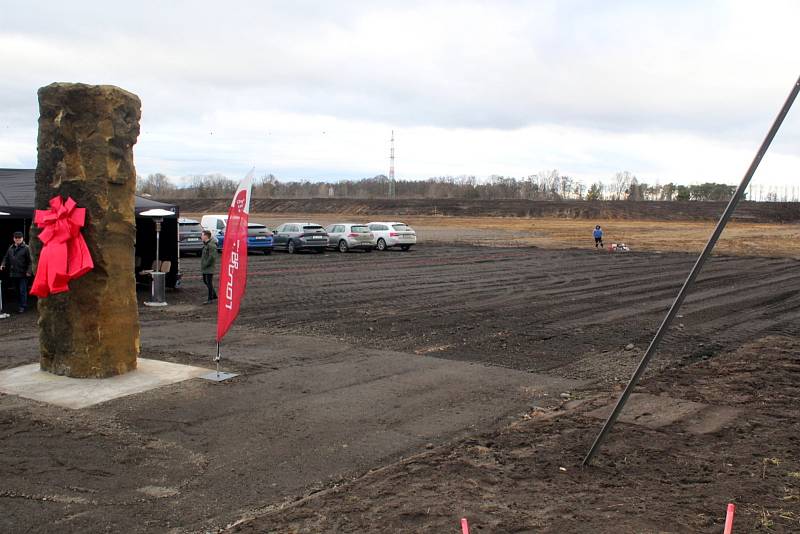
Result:
[[[239,305],[247,284],[247,220],[250,216],[250,187],[253,171],[239,184],[228,209],[225,242],[222,245],[222,266],[217,301],[217,343],[239,315]]]

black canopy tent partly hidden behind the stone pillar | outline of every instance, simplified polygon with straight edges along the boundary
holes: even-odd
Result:
[[[0,250],[5,253],[12,242],[12,235],[16,231],[25,234],[27,241],[33,222],[35,206],[35,169],[0,169],[0,212],[9,215],[0,215]],[[171,211],[174,217],[167,217],[161,224],[161,246],[159,256],[161,260],[170,262],[167,274],[167,285],[175,287],[180,280],[178,275],[178,206],[156,202],[148,198],[136,197],[136,245],[135,257],[138,266],[131,266],[132,270],[149,269],[156,256],[156,228],[149,217],[140,214],[154,208]]]

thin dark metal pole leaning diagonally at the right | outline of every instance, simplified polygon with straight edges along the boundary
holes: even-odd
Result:
[[[667,331],[667,329],[669,329],[670,324],[672,324],[672,320],[675,318],[675,315],[677,315],[681,304],[683,304],[683,299],[686,298],[686,293],[689,291],[689,287],[692,285],[695,278],[697,278],[697,275],[700,273],[700,270],[703,268],[706,260],[711,255],[711,251],[714,249],[714,245],[717,244],[717,240],[719,239],[722,230],[725,229],[725,225],[728,224],[728,220],[731,218],[733,210],[736,209],[736,205],[739,204],[739,200],[741,200],[742,196],[744,195],[745,189],[750,183],[750,179],[753,177],[753,174],[755,174],[759,163],[761,163],[761,159],[764,157],[769,145],[775,138],[775,134],[778,133],[778,129],[781,127],[786,114],[789,113],[789,109],[791,109],[798,92],[800,92],[800,78],[798,78],[795,82],[794,87],[786,99],[786,102],[783,104],[778,116],[775,117],[775,121],[772,123],[772,128],[770,128],[769,132],[767,132],[767,136],[761,143],[761,148],[758,150],[756,157],[753,158],[753,162],[750,164],[750,168],[747,169],[744,178],[742,178],[742,183],[739,184],[739,187],[736,189],[736,192],[733,194],[730,202],[728,202],[728,206],[722,213],[722,217],[720,217],[717,227],[714,229],[714,233],[711,234],[711,238],[708,240],[708,243],[706,243],[703,252],[700,254],[700,257],[697,258],[697,261],[695,262],[694,267],[692,267],[688,278],[686,278],[686,281],[683,283],[683,287],[681,287],[681,290],[678,292],[678,296],[675,297],[675,302],[672,303],[672,307],[670,307],[669,312],[667,312],[667,316],[664,317],[664,321],[661,323],[661,326],[658,327],[656,335],[653,336],[650,346],[647,347],[647,351],[644,353],[642,360],[639,362],[639,366],[636,368],[636,371],[633,372],[633,376],[628,382],[628,385],[625,386],[625,391],[622,392],[622,395],[617,401],[617,405],[614,406],[614,411],[612,411],[611,415],[608,416],[608,419],[603,425],[603,429],[600,430],[600,433],[595,438],[592,448],[589,449],[589,452],[583,459],[583,465],[588,465],[589,462],[592,461],[592,458],[600,449],[600,446],[603,444],[603,441],[605,441],[606,436],[611,431],[614,423],[617,421],[620,412],[622,412],[622,409],[625,407],[625,403],[628,401],[631,391],[634,387],[636,387],[636,384],[639,382],[639,378],[641,378],[642,373],[644,373],[645,369],[647,369],[647,364],[650,362],[653,354],[655,354],[659,343],[661,343],[661,338],[664,337],[664,333]]]

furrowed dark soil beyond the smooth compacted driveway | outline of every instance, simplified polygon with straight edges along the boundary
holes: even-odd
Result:
[[[254,255],[238,324],[555,370],[649,341],[694,260],[683,253],[467,245]],[[791,259],[713,258],[661,355],[679,359],[699,343],[729,349],[766,333],[797,335],[798,266]],[[200,294],[197,260],[183,260],[182,268],[183,295]],[[204,313],[213,315],[199,309],[187,316]]]

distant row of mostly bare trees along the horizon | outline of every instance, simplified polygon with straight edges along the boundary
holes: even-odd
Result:
[[[236,180],[222,174],[193,175],[181,181],[178,186],[164,174],[150,174],[138,177],[137,192],[156,198],[224,198],[233,195],[238,185]],[[608,182],[597,181],[589,186],[557,170],[523,178],[493,175],[479,180],[475,176],[437,176],[395,181],[396,198],[727,201],[735,190],[735,186],[714,182],[648,184],[627,171],[616,173]],[[255,198],[387,198],[389,191],[389,179],[383,175],[334,182],[281,181],[266,174],[253,184]]]

